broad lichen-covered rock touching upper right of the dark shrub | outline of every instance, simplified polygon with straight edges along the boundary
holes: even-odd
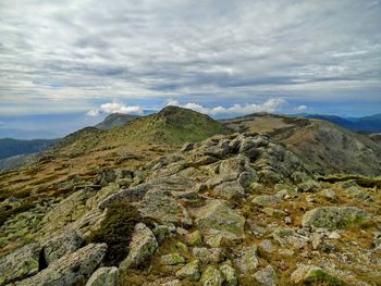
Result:
[[[164,191],[149,190],[140,206],[139,211],[145,217],[162,224],[192,225],[192,219],[186,209]]]

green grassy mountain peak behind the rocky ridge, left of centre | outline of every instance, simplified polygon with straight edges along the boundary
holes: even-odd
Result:
[[[78,156],[126,145],[181,145],[229,132],[224,125],[208,115],[188,109],[167,107],[158,113],[138,116],[108,130],[86,127],[63,138],[54,151]]]

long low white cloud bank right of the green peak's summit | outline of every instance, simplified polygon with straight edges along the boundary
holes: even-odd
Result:
[[[244,114],[250,114],[256,112],[269,112],[269,113],[275,113],[282,108],[286,101],[282,98],[271,98],[265,101],[261,104],[234,104],[229,108],[224,107],[214,107],[214,108],[207,108],[202,107],[200,104],[188,102],[186,104],[181,104],[177,100],[169,100],[167,105],[175,105],[181,107],[185,109],[192,109],[194,111],[209,114],[209,115],[220,115],[220,114],[237,114],[237,115],[244,115]]]

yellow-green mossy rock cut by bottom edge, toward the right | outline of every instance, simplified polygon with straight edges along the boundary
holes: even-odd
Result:
[[[315,265],[299,265],[292,274],[291,279],[296,283],[323,283],[323,285],[342,285],[340,278]]]

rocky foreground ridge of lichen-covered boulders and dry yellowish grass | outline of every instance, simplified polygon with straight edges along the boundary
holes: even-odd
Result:
[[[0,285],[381,285],[372,182],[319,182],[266,136],[186,144],[5,221],[34,239]]]

